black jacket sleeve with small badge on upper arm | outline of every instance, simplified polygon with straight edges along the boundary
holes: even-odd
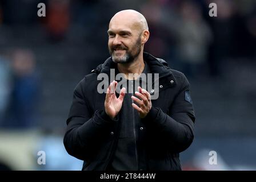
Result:
[[[189,81],[183,75],[181,89],[169,108],[169,114],[153,106],[143,119],[145,125],[149,122],[154,126],[160,135],[159,139],[166,143],[172,152],[186,150],[194,139],[195,115],[189,92]]]

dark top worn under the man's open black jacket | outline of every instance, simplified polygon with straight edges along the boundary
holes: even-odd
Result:
[[[150,73],[149,66],[145,63],[143,73]],[[117,73],[118,69],[116,69]],[[124,80],[126,81],[127,88],[125,98],[123,99],[122,109],[119,111],[119,122],[121,122],[120,133],[117,143],[117,148],[114,153],[114,158],[110,164],[110,170],[118,171],[137,171],[138,170],[138,123],[140,122],[138,111],[133,109],[131,104],[133,100],[131,96],[135,96],[138,88],[135,88],[135,82],[139,81],[142,85],[141,79],[137,80]],[[129,83],[130,82],[130,83]],[[130,90],[128,93],[127,90]]]

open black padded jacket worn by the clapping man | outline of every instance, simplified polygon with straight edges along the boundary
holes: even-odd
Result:
[[[167,63],[143,53],[151,73],[159,73],[159,97],[141,119],[138,130],[138,154],[141,170],[180,170],[179,152],[194,138],[194,109],[190,86],[183,73]],[[110,74],[111,57],[85,76],[74,89],[73,103],[67,118],[64,145],[75,158],[84,160],[83,170],[106,170],[113,158],[119,135],[118,117],[105,113],[106,94],[97,92],[99,73]],[[149,90],[148,90],[149,91]],[[145,160],[146,159],[146,160]]]

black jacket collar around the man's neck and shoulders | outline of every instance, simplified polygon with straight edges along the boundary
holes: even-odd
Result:
[[[172,75],[171,69],[165,60],[152,56],[150,53],[143,52],[143,60],[149,65],[150,73],[159,73],[159,78]],[[111,68],[116,68],[117,64],[113,62],[112,57],[105,60],[103,64],[98,65],[92,72],[110,74]]]

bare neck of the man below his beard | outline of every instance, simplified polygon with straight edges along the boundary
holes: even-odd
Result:
[[[131,63],[118,63],[117,68],[120,73],[123,73],[127,80],[134,80],[137,79],[141,73],[143,72],[143,69],[145,67],[143,56],[139,55],[133,62]],[[133,73],[132,75],[129,73]],[[138,75],[134,75],[137,73]],[[135,76],[135,77],[134,77]]]

